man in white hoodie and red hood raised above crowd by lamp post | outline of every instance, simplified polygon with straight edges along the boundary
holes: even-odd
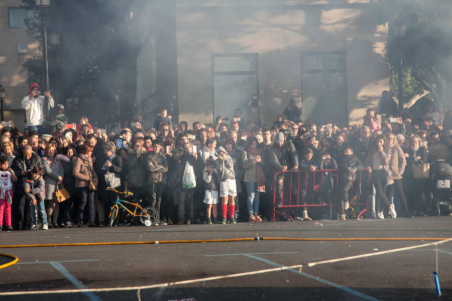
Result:
[[[54,107],[54,100],[50,91],[44,91],[44,95],[40,95],[41,89],[37,83],[30,85],[30,94],[22,99],[22,108],[27,116],[27,126],[30,129],[37,130],[40,135],[44,134],[44,108],[45,97],[49,98],[50,108]]]

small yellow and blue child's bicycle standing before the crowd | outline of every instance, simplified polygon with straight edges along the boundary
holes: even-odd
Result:
[[[120,194],[133,196],[134,194],[132,192],[128,191],[121,192],[111,187],[107,187],[106,190],[114,191],[118,194],[116,203],[111,207],[110,215],[108,216],[110,218],[108,227],[111,227],[116,218],[118,217],[118,211],[120,207],[123,208],[123,210],[129,212],[129,214],[132,215],[133,217],[139,217],[140,222],[147,227],[155,225],[155,223],[159,220],[159,213],[154,208],[152,207],[143,208],[138,203],[128,202],[120,199],[119,197]],[[130,211],[124,204],[134,206],[135,207],[134,212]],[[139,214],[137,214],[137,210],[140,210]]]

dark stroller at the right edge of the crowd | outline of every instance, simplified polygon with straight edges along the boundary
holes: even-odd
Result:
[[[430,212],[440,216],[452,212],[450,182],[452,167],[445,160],[438,160],[430,164],[430,189],[432,199]]]

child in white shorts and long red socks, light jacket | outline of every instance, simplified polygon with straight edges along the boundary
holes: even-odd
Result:
[[[234,173],[234,161],[222,146],[219,146],[216,149],[216,153],[218,159],[215,161],[215,164],[218,172],[218,181],[220,181],[221,214],[223,217],[219,224],[225,224],[227,222],[226,216],[228,214],[228,204],[231,224],[235,224],[236,219],[234,218],[234,213],[236,210],[236,203],[234,198],[237,196],[237,186],[235,180],[236,174]]]

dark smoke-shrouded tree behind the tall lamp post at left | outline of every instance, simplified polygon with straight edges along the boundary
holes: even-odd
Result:
[[[22,0],[23,7],[33,10],[33,18],[26,21],[28,33],[40,41],[41,24],[34,0]],[[130,86],[125,87],[125,69],[135,69],[136,47],[129,40],[131,0],[71,0],[52,1],[48,9],[47,32],[60,33],[58,51],[58,87],[55,74],[50,73],[51,89],[57,88],[69,117],[88,115],[92,119],[111,119],[119,111],[118,97],[132,103],[126,113],[133,113],[133,97]],[[42,50],[42,48],[40,49]],[[49,58],[52,50],[49,49]],[[49,62],[50,65],[50,62]],[[30,80],[42,82],[41,55],[23,62]],[[129,80],[129,79],[128,79]],[[133,89],[133,88],[132,88]],[[119,120],[118,116],[115,117]]]

